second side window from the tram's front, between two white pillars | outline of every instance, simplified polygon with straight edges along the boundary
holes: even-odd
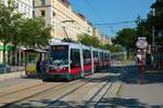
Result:
[[[87,64],[90,64],[91,60],[91,53],[89,50],[84,50],[84,64],[87,65]]]

